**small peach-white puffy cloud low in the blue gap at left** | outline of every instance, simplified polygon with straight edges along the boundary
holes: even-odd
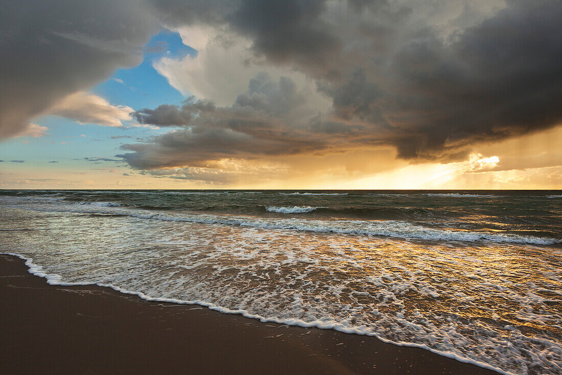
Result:
[[[49,113],[81,124],[121,127],[123,121],[131,119],[129,114],[132,111],[128,106],[111,105],[102,97],[79,91],[59,101]]]

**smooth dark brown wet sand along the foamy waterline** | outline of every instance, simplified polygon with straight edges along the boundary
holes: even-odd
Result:
[[[377,338],[261,323],[102,287],[57,287],[0,255],[0,372],[496,374]]]

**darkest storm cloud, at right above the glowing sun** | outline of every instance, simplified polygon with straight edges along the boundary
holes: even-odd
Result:
[[[374,106],[390,105],[389,122],[409,134],[392,139],[401,157],[439,158],[562,122],[562,3],[510,5],[451,46],[426,38],[394,57],[404,90]]]

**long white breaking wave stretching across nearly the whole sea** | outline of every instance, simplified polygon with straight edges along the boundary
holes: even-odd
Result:
[[[51,205],[49,205],[51,206]],[[34,211],[45,212],[76,212],[76,213],[110,213],[121,214],[142,219],[197,222],[201,224],[222,224],[234,226],[248,226],[264,229],[286,229],[309,231],[316,233],[338,233],[367,236],[389,236],[409,239],[448,240],[461,242],[491,241],[499,243],[519,243],[549,245],[562,243],[555,238],[541,238],[536,236],[522,236],[516,234],[494,234],[478,231],[460,231],[448,229],[428,228],[410,224],[405,221],[366,221],[366,220],[310,220],[297,218],[259,218],[244,216],[221,216],[209,214],[178,213],[169,214],[140,211],[129,208],[85,207],[85,205],[60,205],[51,207],[21,207]]]

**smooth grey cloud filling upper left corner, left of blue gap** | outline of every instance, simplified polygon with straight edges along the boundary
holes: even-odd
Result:
[[[158,24],[133,0],[6,0],[0,11],[0,139],[63,97],[140,63]]]

